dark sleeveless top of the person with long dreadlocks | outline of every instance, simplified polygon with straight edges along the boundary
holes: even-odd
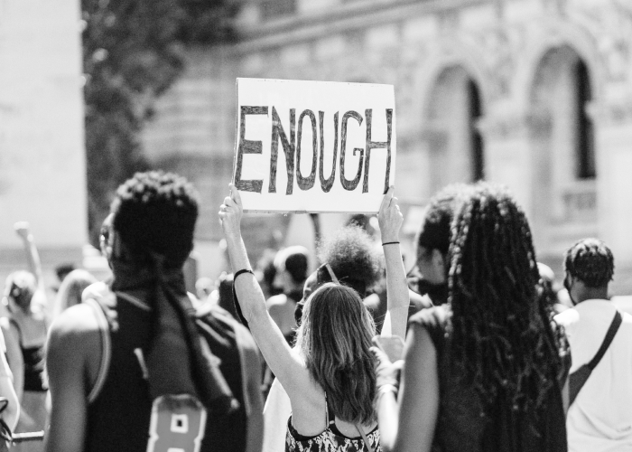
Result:
[[[448,306],[434,306],[409,322],[426,329],[436,350],[440,395],[432,452],[566,452],[562,391],[555,377],[535,413],[512,410],[502,391],[485,408],[477,391],[461,380],[463,365],[451,360],[450,315]]]

